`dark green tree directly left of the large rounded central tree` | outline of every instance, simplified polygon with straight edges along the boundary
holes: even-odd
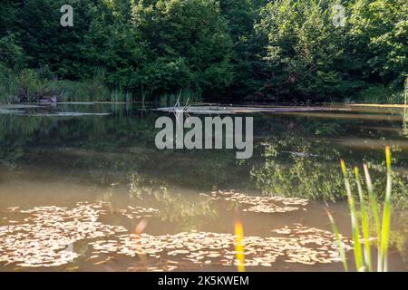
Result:
[[[147,48],[131,24],[131,2],[99,1],[90,11],[91,24],[81,44],[83,79],[102,68],[111,87],[137,89]]]

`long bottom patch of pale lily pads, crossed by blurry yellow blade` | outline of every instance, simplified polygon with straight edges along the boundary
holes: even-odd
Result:
[[[295,224],[292,228],[279,228],[274,232],[280,237],[243,238],[245,266],[272,266],[278,259],[305,265],[341,261],[335,236],[329,231]],[[117,240],[98,240],[91,244],[92,253],[98,255],[176,259],[197,266],[236,266],[235,238],[227,233],[191,230],[163,236],[124,234]],[[172,267],[177,268],[177,263]]]

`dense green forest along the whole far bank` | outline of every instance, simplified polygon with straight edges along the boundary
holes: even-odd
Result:
[[[3,0],[0,100],[402,102],[407,15],[407,0]]]

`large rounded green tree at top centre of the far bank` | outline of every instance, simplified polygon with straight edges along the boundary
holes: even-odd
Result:
[[[141,86],[159,93],[209,92],[231,82],[232,42],[218,2],[135,1],[132,23],[149,48]]]

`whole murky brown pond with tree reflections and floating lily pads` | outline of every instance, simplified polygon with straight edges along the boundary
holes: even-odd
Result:
[[[235,150],[156,149],[155,121],[174,118],[157,108],[0,108],[0,270],[236,271],[234,227],[242,223],[247,271],[343,271],[325,213],[351,248],[339,161],[349,169],[368,163],[382,196],[386,145],[394,174],[389,267],[408,269],[403,109],[224,111],[253,117],[253,156],[237,160]]]

